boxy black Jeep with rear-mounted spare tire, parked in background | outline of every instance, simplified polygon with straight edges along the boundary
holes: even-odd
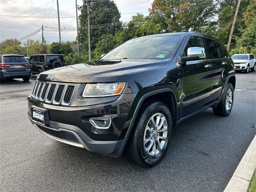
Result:
[[[37,74],[49,69],[65,66],[64,56],[61,54],[31,55],[29,63],[31,72]]]

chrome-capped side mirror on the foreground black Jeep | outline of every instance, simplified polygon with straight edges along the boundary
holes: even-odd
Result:
[[[205,50],[202,47],[190,47],[188,48],[188,56],[182,57],[182,62],[196,61],[206,58]]]

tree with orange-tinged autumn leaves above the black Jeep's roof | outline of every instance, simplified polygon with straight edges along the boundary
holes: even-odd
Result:
[[[164,32],[200,32],[213,22],[217,6],[212,0],[154,0],[149,11]]]

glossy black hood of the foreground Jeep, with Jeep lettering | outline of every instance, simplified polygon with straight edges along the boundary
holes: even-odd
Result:
[[[103,60],[47,70],[37,79],[73,83],[116,82],[124,74],[158,68],[165,63],[162,60]]]

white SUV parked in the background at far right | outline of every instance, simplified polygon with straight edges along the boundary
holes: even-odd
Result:
[[[234,61],[236,71],[248,73],[250,69],[256,70],[256,59],[253,54],[234,54],[231,58]]]

